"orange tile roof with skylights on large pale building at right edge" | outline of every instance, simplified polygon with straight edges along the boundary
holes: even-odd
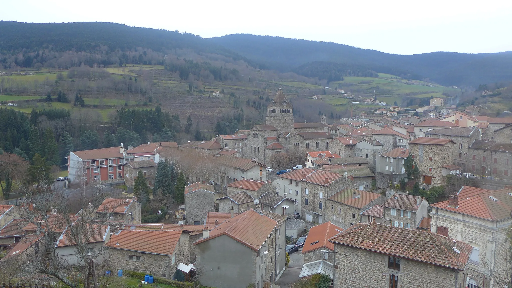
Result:
[[[510,218],[512,211],[512,190],[502,189],[484,192],[468,197],[459,197],[458,206],[451,207],[449,201],[431,204],[431,207],[482,218],[499,221]],[[497,199],[496,201],[490,197]]]

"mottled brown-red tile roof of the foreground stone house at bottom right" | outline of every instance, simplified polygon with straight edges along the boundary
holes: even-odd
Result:
[[[454,242],[448,237],[377,223],[352,225],[333,237],[331,241],[460,271],[466,268],[473,251],[472,246],[457,241],[456,247],[460,251],[459,254],[452,249]]]

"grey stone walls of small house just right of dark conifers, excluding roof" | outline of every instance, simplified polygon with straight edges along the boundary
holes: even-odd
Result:
[[[206,219],[207,212],[215,212],[215,193],[198,190],[185,194],[185,213],[189,224]]]

